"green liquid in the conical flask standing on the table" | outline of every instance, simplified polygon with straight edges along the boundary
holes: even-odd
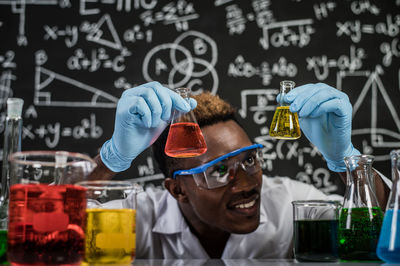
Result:
[[[339,218],[342,260],[379,260],[376,256],[383,212],[379,207],[343,208]]]

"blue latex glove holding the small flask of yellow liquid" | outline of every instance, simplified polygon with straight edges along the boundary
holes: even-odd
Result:
[[[343,158],[360,154],[351,143],[352,105],[349,97],[333,87],[318,83],[296,87],[283,100],[290,103],[291,112],[298,113],[300,128],[317,146],[328,168],[345,172]]]

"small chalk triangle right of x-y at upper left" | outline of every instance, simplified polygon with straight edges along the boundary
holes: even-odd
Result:
[[[122,49],[121,40],[108,14],[99,19],[93,30],[86,36],[86,39],[116,50]]]

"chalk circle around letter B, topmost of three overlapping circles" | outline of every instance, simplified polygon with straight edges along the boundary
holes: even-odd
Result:
[[[181,34],[178,38],[176,38],[176,40],[174,41],[175,44],[179,45],[179,43],[181,43],[185,38],[190,37],[190,36],[195,36],[198,38],[201,38],[202,40],[204,40],[206,43],[208,43],[208,45],[211,47],[211,62],[210,64],[214,67],[215,64],[217,63],[217,45],[215,44],[215,41],[213,39],[211,39],[210,37],[208,37],[207,35],[205,35],[202,32],[198,32],[198,31],[188,31],[185,32],[183,34]],[[177,60],[176,60],[176,55],[175,55],[175,51],[171,49],[171,61],[172,64],[176,64]],[[193,57],[193,58],[197,58],[197,57]],[[201,58],[199,58],[201,59]],[[204,59],[202,59],[204,60]],[[206,61],[206,60],[204,60]],[[180,72],[180,71],[179,71]],[[204,76],[208,73],[208,69],[204,69],[203,71],[200,72],[196,72],[193,70],[193,76],[194,77],[201,77]],[[184,74],[184,73],[181,73]]]

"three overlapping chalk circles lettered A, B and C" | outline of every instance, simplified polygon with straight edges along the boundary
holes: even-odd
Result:
[[[214,68],[217,45],[198,31],[187,31],[173,43],[155,46],[143,60],[143,77],[157,80],[170,88],[188,87],[193,94],[205,90],[216,94],[219,79]]]

